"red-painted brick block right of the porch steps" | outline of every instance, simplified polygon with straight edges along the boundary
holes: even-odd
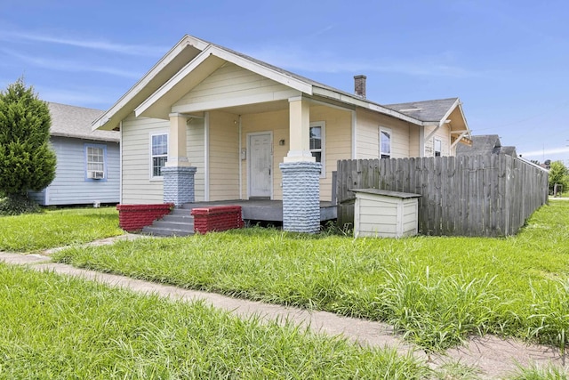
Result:
[[[194,230],[206,233],[213,230],[243,228],[241,206],[215,206],[192,209]]]

